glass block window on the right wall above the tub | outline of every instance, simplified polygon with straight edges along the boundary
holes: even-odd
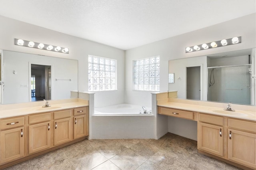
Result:
[[[134,90],[160,91],[160,56],[133,62]]]

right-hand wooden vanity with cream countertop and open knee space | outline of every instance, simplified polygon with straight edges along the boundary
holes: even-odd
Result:
[[[255,107],[233,112],[224,111],[220,107],[224,104],[182,99],[157,101],[158,114],[197,121],[198,152],[241,168],[256,169]]]

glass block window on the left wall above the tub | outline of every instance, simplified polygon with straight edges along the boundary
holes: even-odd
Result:
[[[116,60],[88,56],[88,91],[116,90]]]

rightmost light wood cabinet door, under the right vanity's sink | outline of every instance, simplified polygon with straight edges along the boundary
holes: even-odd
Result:
[[[228,129],[228,159],[256,169],[256,134]]]

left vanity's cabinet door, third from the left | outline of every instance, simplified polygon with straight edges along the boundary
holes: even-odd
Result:
[[[54,145],[72,140],[71,118],[54,121]]]

